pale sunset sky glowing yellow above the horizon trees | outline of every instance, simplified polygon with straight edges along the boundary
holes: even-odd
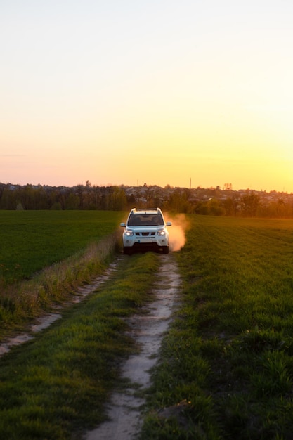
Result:
[[[0,182],[293,192],[292,0],[0,0]]]

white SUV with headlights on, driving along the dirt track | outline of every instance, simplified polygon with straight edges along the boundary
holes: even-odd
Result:
[[[134,250],[157,250],[168,254],[169,233],[161,209],[131,209],[128,219],[120,224],[125,228],[123,233],[124,254],[131,254]]]

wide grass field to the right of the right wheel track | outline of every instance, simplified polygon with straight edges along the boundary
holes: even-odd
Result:
[[[190,221],[141,438],[291,439],[292,222]]]

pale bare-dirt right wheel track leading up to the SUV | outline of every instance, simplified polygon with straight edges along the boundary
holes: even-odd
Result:
[[[124,387],[111,396],[109,420],[88,432],[85,440],[130,440],[138,437],[145,403],[143,392],[150,385],[150,368],[157,362],[162,337],[168,328],[181,285],[174,256],[162,255],[160,259],[161,267],[152,290],[154,301],[128,320],[130,336],[138,344],[139,352],[131,355],[122,365]]]

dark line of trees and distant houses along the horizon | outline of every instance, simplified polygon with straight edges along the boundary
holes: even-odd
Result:
[[[224,195],[224,197],[223,197]],[[171,188],[166,186],[138,187],[134,191],[124,186],[74,187],[12,186],[0,183],[0,209],[97,209],[124,211],[131,207],[162,207],[166,211],[216,216],[249,216],[293,218],[293,195],[273,200],[261,198],[254,191],[240,195],[237,191],[214,188]]]

